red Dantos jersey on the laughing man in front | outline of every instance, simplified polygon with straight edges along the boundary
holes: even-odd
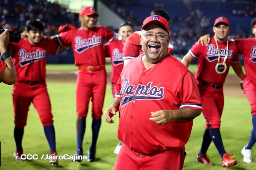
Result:
[[[202,110],[194,76],[171,55],[146,70],[143,55],[123,68],[116,85],[115,98],[120,99],[118,138],[144,154],[181,148],[189,139],[193,121],[160,126],[149,118],[151,112],[160,110]]]

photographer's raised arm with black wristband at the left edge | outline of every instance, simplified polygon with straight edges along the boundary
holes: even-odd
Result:
[[[7,48],[9,43],[9,31],[0,34],[0,82],[14,84],[16,82],[16,72],[12,61],[11,50]]]

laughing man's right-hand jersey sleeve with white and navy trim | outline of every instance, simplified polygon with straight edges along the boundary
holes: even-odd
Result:
[[[181,78],[176,94],[181,100],[180,108],[203,109],[196,80],[191,72],[186,72]]]

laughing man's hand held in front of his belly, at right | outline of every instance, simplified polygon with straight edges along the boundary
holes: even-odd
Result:
[[[151,112],[152,118],[149,120],[154,121],[158,125],[166,125],[172,121],[172,114],[170,110],[161,110],[157,112]]]

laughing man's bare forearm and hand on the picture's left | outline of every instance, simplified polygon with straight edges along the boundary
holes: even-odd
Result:
[[[104,116],[105,116],[105,121],[107,123],[114,123],[115,121],[112,120],[111,118],[116,115],[116,112],[118,112],[120,106],[120,100],[119,98],[114,98],[113,102],[111,105],[105,110]]]

